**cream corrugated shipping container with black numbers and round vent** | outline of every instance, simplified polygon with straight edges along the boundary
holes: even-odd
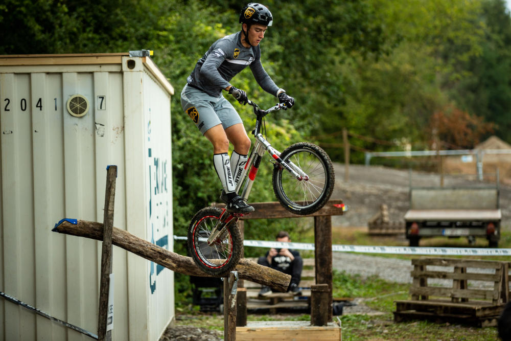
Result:
[[[133,55],[133,54],[131,54]],[[102,243],[51,232],[103,222],[172,251],[172,85],[149,56],[0,56],[0,291],[97,334]],[[174,319],[174,274],[113,247],[114,340],[157,340]],[[88,336],[0,298],[4,340]]]

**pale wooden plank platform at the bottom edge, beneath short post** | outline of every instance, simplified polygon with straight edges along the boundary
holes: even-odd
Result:
[[[308,321],[264,321],[236,327],[236,340],[341,341],[342,333],[341,327],[333,323],[311,326]]]

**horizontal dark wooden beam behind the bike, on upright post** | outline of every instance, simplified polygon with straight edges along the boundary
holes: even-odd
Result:
[[[301,217],[322,217],[322,216],[337,216],[342,215],[342,199],[329,200],[319,211],[308,214],[298,215],[286,210],[280,202],[250,202],[250,206],[255,209],[255,212],[241,217],[241,219],[270,219],[270,218],[301,218]],[[224,208],[225,203],[213,202],[212,206]]]

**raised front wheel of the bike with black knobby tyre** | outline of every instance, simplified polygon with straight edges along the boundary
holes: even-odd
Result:
[[[300,142],[286,148],[280,157],[307,176],[297,179],[275,164],[273,192],[278,201],[286,210],[299,215],[321,209],[330,199],[335,182],[334,167],[328,154],[315,144]]]

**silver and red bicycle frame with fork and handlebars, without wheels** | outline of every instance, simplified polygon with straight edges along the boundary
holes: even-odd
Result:
[[[271,111],[285,109],[286,105],[280,103],[275,106],[272,106],[267,110],[262,110],[261,108],[259,108],[257,104],[255,104],[252,101],[248,101],[247,104],[253,107],[256,116],[255,128],[254,130],[252,130],[252,135],[255,138],[255,144],[252,147],[252,150],[250,151],[247,163],[245,164],[245,168],[241,173],[240,180],[238,181],[238,185],[236,186],[236,193],[240,193],[241,187],[243,186],[243,184],[245,184],[243,187],[243,192],[240,194],[240,196],[242,197],[243,200],[245,201],[248,200],[248,196],[250,194],[250,191],[252,190],[255,176],[257,175],[257,172],[259,170],[259,166],[261,164],[261,160],[263,158],[265,150],[273,157],[273,160],[275,160],[275,162],[280,167],[286,169],[289,173],[296,177],[296,179],[300,181],[301,180],[307,181],[309,179],[309,176],[306,173],[304,173],[299,167],[294,165],[291,161],[283,161],[280,157],[281,152],[273,148],[271,144],[268,141],[266,141],[266,139],[263,137],[263,134],[261,133],[261,125],[263,123],[263,118]],[[239,218],[244,215],[241,213],[231,213],[225,215],[226,212],[227,212],[226,209],[222,210],[222,213],[220,215],[220,218],[218,219],[215,228],[212,230],[210,237],[207,239],[208,245],[211,246],[219,238],[222,237],[229,223],[233,221],[237,222]]]

